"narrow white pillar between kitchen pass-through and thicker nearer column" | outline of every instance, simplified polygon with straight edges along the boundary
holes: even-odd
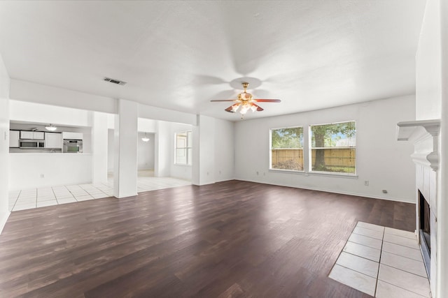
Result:
[[[92,112],[92,183],[107,184],[107,114]]]

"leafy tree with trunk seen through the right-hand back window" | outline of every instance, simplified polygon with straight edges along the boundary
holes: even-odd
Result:
[[[338,124],[325,124],[311,126],[311,144],[314,148],[334,147],[334,139],[340,136],[337,134],[353,137],[356,133],[355,122],[344,122]],[[325,166],[325,151],[316,150],[316,159],[313,170],[327,170]]]

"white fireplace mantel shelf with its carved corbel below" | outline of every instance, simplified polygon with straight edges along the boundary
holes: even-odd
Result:
[[[428,137],[432,138],[432,146],[426,149],[416,150],[412,154],[415,163],[429,165],[433,170],[439,168],[439,154],[437,152],[438,136],[440,133],[440,119],[419,120],[419,121],[402,121],[398,122],[397,139],[399,141],[413,140],[414,144],[423,143]]]

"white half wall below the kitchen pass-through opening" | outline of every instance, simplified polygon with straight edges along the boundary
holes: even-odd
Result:
[[[10,191],[92,183],[90,154],[25,153],[9,154],[9,159]]]

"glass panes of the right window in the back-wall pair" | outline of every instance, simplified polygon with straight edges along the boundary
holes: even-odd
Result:
[[[309,126],[311,171],[355,174],[356,123]]]

